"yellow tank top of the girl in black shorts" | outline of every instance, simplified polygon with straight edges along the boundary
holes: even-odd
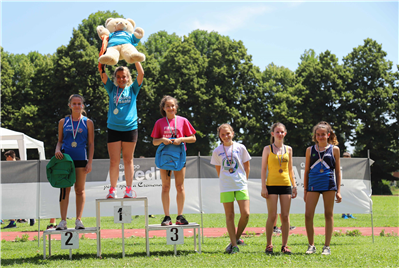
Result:
[[[266,180],[267,186],[291,186],[291,180],[288,172],[289,154],[287,147],[284,147],[285,154],[283,154],[283,161],[281,161],[281,155],[277,156],[275,153],[273,153],[272,146],[270,146],[270,153],[267,159],[267,169],[269,171]],[[283,170],[282,173],[279,172],[280,169]]]

